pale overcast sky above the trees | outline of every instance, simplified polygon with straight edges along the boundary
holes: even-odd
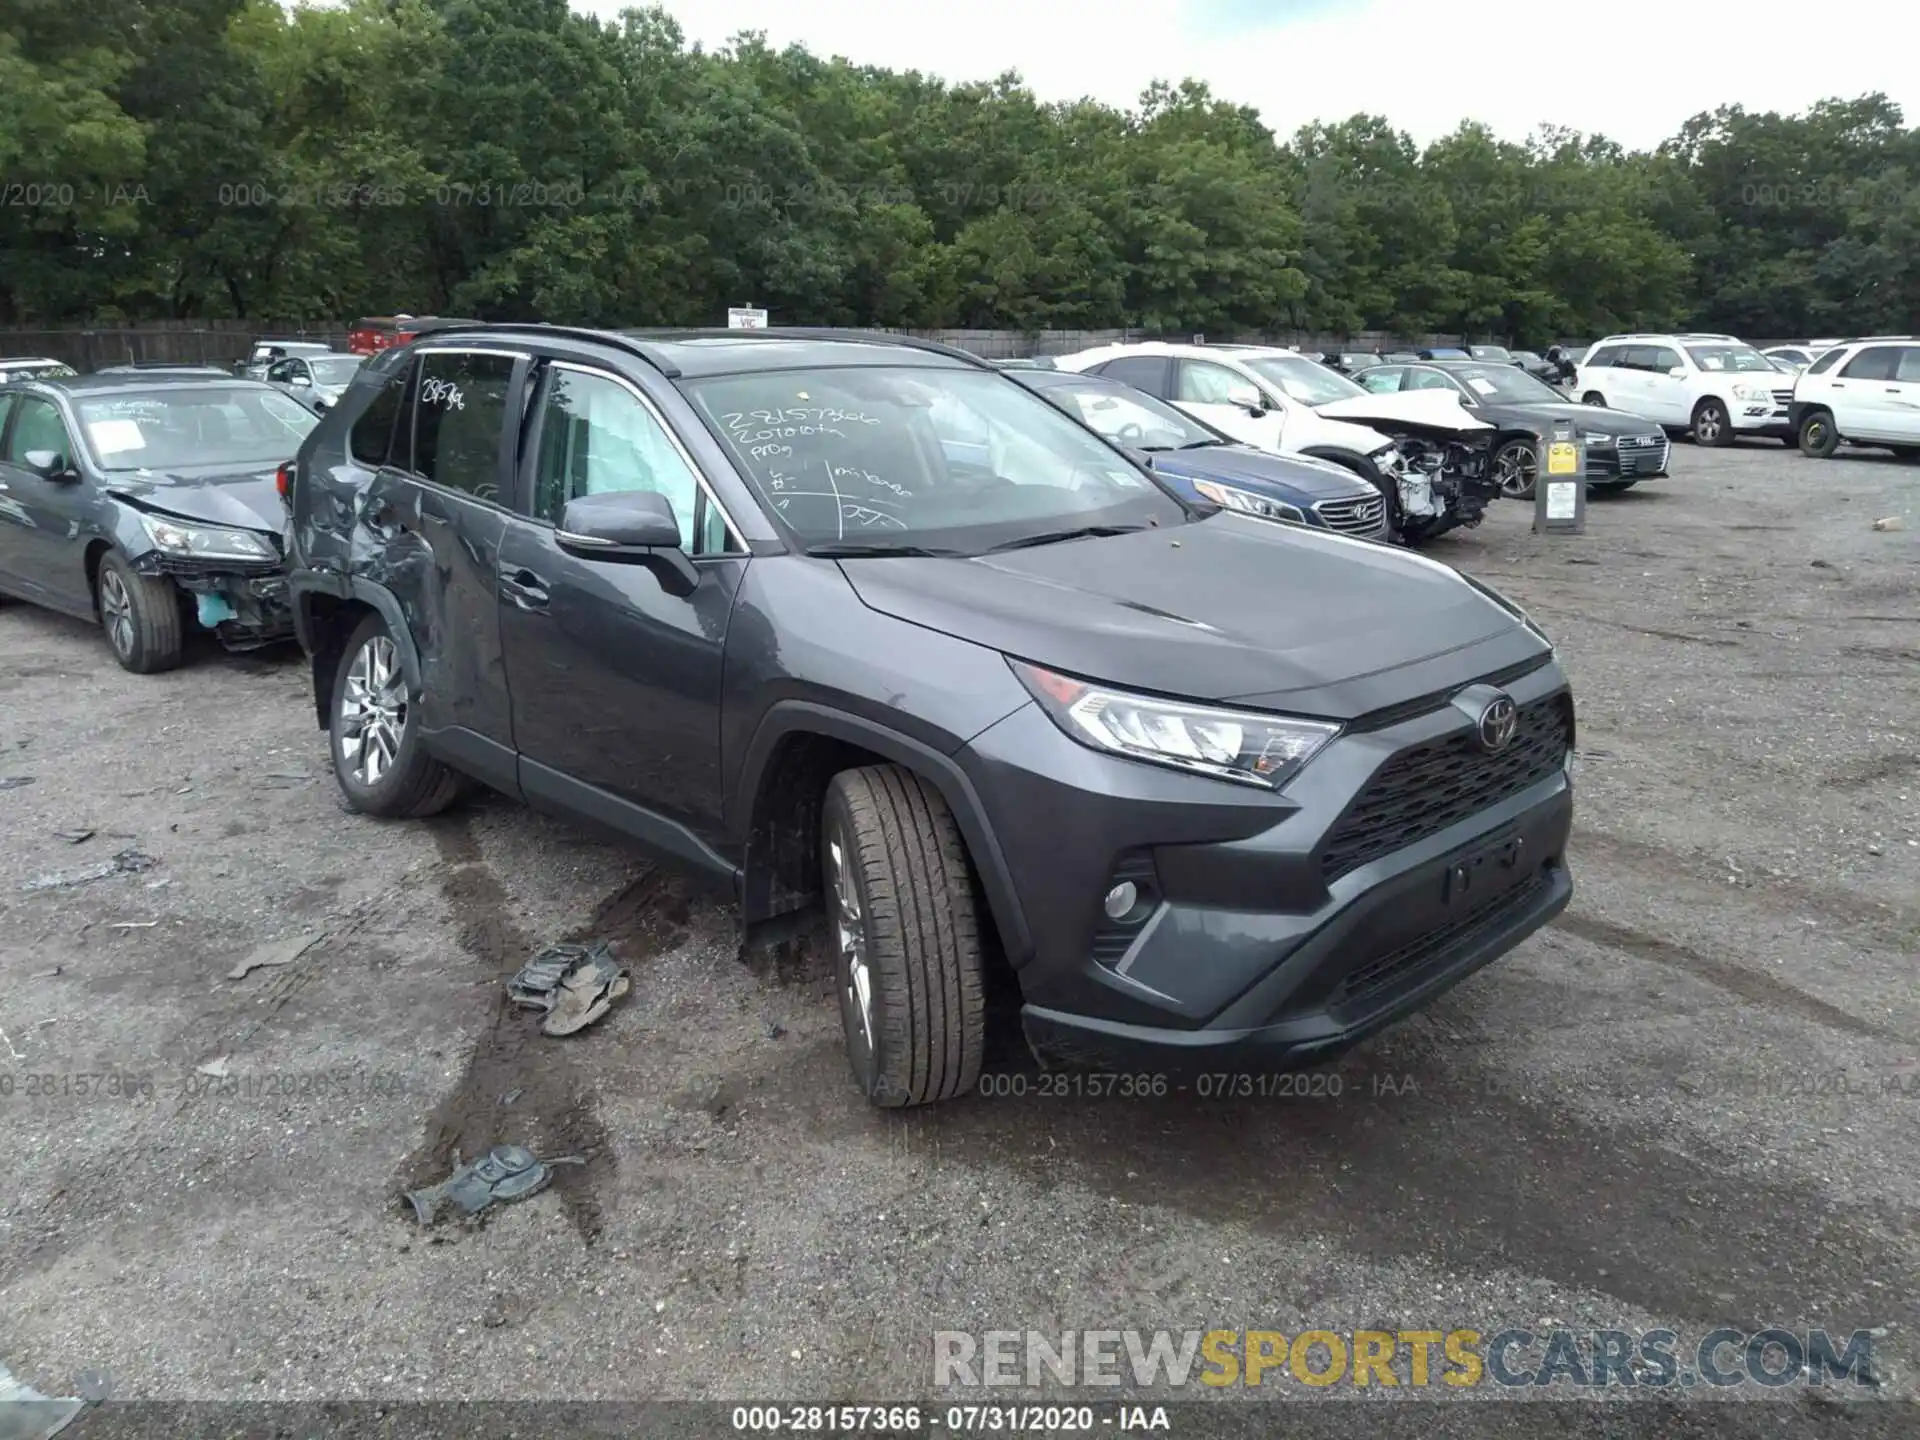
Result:
[[[776,46],[948,81],[1018,69],[1043,100],[1131,106],[1204,79],[1281,138],[1384,113],[1427,142],[1463,119],[1523,140],[1540,123],[1644,148],[1701,109],[1805,109],[1884,90],[1920,123],[1912,15],[1893,0],[664,0],[708,48]],[[574,0],[612,15],[626,0]],[[1797,33],[1793,33],[1797,27]]]

